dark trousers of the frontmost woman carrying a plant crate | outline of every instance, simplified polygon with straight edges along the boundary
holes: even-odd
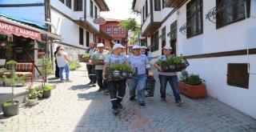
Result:
[[[109,81],[107,88],[110,91],[112,109],[117,109],[117,104],[122,102],[122,98],[126,94],[126,80]]]

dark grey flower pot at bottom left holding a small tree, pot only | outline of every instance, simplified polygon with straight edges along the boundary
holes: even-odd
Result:
[[[11,101],[10,101],[11,102]],[[13,105],[3,106],[2,104],[2,112],[5,117],[10,117],[18,114],[18,101],[14,101]]]

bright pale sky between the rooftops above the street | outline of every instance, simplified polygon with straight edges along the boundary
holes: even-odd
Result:
[[[131,14],[133,0],[105,0],[105,2],[110,11],[102,11],[100,15],[103,18],[115,18],[122,20],[127,18],[136,18],[137,22],[140,23],[140,16]]]

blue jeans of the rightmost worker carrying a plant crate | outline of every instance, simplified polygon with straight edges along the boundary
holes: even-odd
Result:
[[[181,96],[179,95],[178,91],[178,78],[177,75],[175,76],[166,76],[159,74],[158,75],[159,81],[160,81],[160,94],[161,98],[166,98],[166,86],[167,82],[170,83],[170,87],[173,90],[175,102],[182,101]]]

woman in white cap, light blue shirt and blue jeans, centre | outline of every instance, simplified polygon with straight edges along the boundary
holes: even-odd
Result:
[[[150,70],[150,62],[145,54],[141,54],[140,46],[133,46],[133,53],[129,56],[128,63],[133,68],[138,68],[138,76],[128,80],[130,101],[135,100],[135,92],[137,90],[139,105],[145,107],[146,70]]]

